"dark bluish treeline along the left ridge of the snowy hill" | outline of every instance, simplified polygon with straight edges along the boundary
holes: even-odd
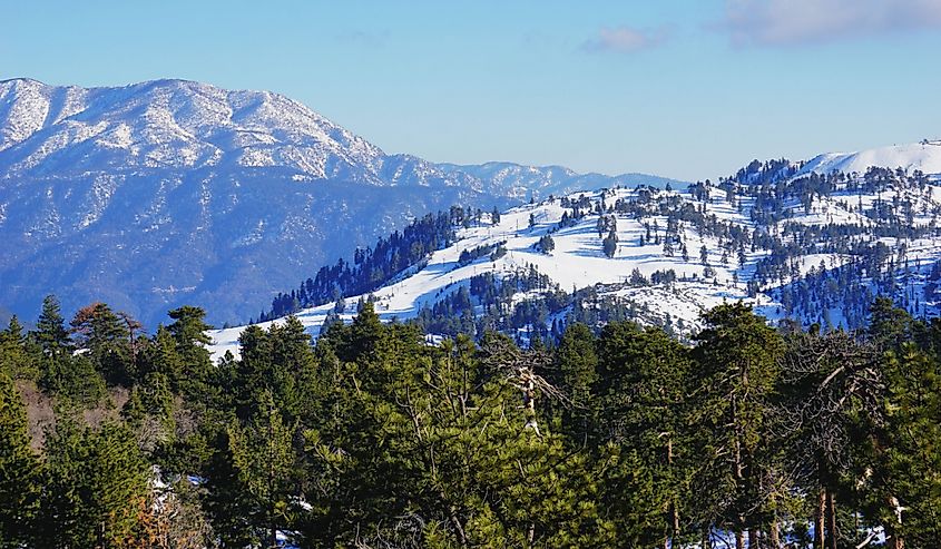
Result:
[[[432,252],[451,245],[455,227],[499,223],[500,213],[452,206],[447,212],[428,214],[414,219],[401,233],[380,237],[371,247],[357,248],[353,263],[337,259],[333,266],[321,267],[313,278],[307,278],[296,290],[280,293],[272,301],[272,308],[262,312],[257,322],[265,322],[305,307],[314,307],[352,295],[367,294],[392,280],[404,269],[421,263]],[[486,255],[494,253],[488,251]],[[462,259],[472,261],[472,258]]]

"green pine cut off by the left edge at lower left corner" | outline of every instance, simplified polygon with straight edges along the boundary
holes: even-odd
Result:
[[[0,372],[0,548],[26,547],[36,532],[42,487],[29,447],[26,410],[13,381]]]

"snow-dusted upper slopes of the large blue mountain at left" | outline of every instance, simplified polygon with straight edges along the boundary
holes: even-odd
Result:
[[[384,183],[382,150],[297,101],[185,80],[89,89],[0,82],[0,177],[277,166]]]

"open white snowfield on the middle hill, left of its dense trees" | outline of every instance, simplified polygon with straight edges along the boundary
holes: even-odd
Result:
[[[580,193],[571,195],[571,198],[581,196],[595,203],[604,199],[612,204],[618,199],[636,197],[637,193],[637,189],[617,188]],[[677,192],[661,193],[685,196]],[[423,306],[431,306],[460,285],[468,285],[474,275],[493,272],[498,276],[504,276],[530,266],[548,275],[562,290],[582,288],[597,284],[604,288],[602,293],[617,295],[636,304],[650,317],[656,320],[672,317],[680,321],[682,325],[687,325],[689,330],[699,325],[698,317],[703,311],[723,301],[745,300],[755,304],[758,311],[770,316],[776,315],[776,304],[770,297],[758,295],[756,298],[749,298],[747,296],[744,284],[733,280],[734,269],[721,265],[719,254],[709,254],[709,262],[714,265],[712,268],[716,275],[714,278],[706,280],[704,277],[706,267],[698,256],[687,259],[677,256],[667,257],[663,254],[659,244],[641,245],[640,239],[646,232],[644,224],[629,216],[618,215],[619,246],[614,257],[607,257],[602,253],[601,239],[596,228],[598,215],[586,216],[570,227],[558,228],[562,214],[567,212],[560,204],[561,200],[555,198],[520,206],[501,214],[500,223],[497,225],[484,224],[481,227],[461,229],[458,242],[432,254],[427,265],[416,273],[372,293],[380,317],[383,320],[412,318]],[[748,224],[747,218],[728,205],[716,204],[714,209],[718,215]],[[532,226],[529,225],[530,216],[536,222]],[[654,220],[666,227],[664,216],[645,219],[646,223]],[[550,234],[555,241],[555,251],[550,254],[541,253],[535,247],[539,238],[546,234]],[[718,247],[715,238],[700,237],[694,231],[689,231],[686,237],[689,249],[698,251],[703,245],[712,249]],[[502,257],[496,261],[483,257],[469,265],[460,265],[459,257],[462,252],[499,243],[506,243],[508,251]],[[762,254],[751,255],[749,264],[761,256]],[[670,287],[631,287],[627,282],[635,269],[647,277],[658,271],[674,269],[683,282]],[[346,301],[355,303],[360,297],[366,296],[352,296]],[[526,297],[526,295],[519,295],[519,300]],[[304,310],[296,316],[307,326],[311,334],[316,335],[333,307],[334,304],[331,303]],[[355,316],[353,311],[341,315],[346,322],[353,316]],[[271,322],[259,325],[267,327]],[[238,335],[242,330],[244,326],[212,332],[214,343],[210,349],[214,356],[219,357],[226,351],[237,354]]]

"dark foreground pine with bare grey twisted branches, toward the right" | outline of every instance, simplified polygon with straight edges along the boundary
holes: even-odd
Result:
[[[855,484],[870,467],[860,447],[869,445],[860,420],[880,415],[882,381],[873,375],[874,345],[845,332],[786,336],[777,405],[776,442],[792,471],[794,491],[813,509],[815,547],[855,539],[856,526],[840,523],[843,508],[857,504]]]

